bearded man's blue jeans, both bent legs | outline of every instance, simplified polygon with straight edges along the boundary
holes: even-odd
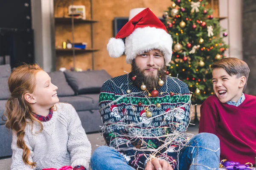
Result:
[[[179,170],[218,170],[220,141],[211,133],[199,133],[189,141],[179,155]],[[98,147],[91,157],[93,170],[134,170],[116,150]]]

